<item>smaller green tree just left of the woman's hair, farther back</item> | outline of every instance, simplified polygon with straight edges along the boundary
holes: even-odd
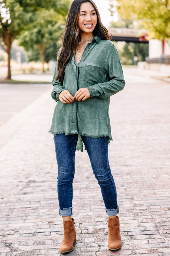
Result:
[[[65,15],[68,8],[65,9]],[[44,61],[56,59],[57,43],[63,33],[65,16],[59,15],[54,9],[41,9],[34,15],[34,21],[19,38],[20,45],[29,51],[29,59],[41,59],[42,71]],[[39,56],[37,56],[39,53]]]

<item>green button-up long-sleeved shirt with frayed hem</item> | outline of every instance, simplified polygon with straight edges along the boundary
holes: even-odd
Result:
[[[63,83],[55,81],[57,64],[52,84],[52,98],[57,102],[49,133],[78,134],[88,137],[108,137],[112,140],[109,119],[110,96],[125,86],[122,66],[114,43],[95,36],[89,43],[78,64],[74,56],[67,68]],[[62,103],[58,96],[68,90],[74,97],[77,90],[87,87],[90,98],[70,104]],[[81,137],[77,150],[82,151]]]

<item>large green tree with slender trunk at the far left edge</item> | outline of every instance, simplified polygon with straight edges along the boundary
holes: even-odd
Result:
[[[35,21],[40,10],[55,10],[65,15],[69,0],[0,0],[0,44],[8,54],[8,75],[10,79],[10,50],[14,39]],[[43,22],[43,20],[42,20]]]

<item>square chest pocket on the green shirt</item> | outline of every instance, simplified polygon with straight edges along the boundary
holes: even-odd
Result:
[[[92,66],[92,65],[84,65],[84,78],[83,81],[94,85],[97,83],[105,82],[105,72],[102,67]]]

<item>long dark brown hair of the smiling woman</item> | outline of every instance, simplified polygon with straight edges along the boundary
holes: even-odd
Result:
[[[62,35],[62,48],[58,58],[57,76],[55,80],[59,80],[60,82],[63,82],[65,69],[71,61],[73,51],[76,50],[80,38],[80,30],[78,27],[80,5],[87,2],[93,5],[97,15],[97,24],[93,30],[94,36],[98,36],[104,40],[110,40],[109,32],[101,23],[100,14],[95,3],[92,0],[74,0],[67,14],[65,30]]]

